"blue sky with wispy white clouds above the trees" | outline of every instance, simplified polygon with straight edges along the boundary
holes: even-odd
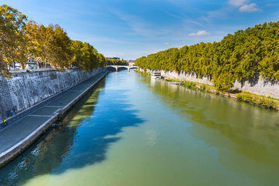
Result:
[[[107,57],[137,59],[172,47],[220,41],[279,21],[279,0],[0,0],[38,24],[60,24],[72,40]]]

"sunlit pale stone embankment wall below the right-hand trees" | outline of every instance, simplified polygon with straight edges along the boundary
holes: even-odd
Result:
[[[140,68],[141,71],[144,71]],[[146,72],[152,72],[152,70],[146,70]],[[165,71],[160,70],[163,77],[168,77],[172,79],[185,79],[190,82],[197,82],[200,84],[213,85],[209,77],[197,77],[195,74],[189,74],[185,72],[175,72],[175,71]],[[255,93],[257,95],[271,96],[271,98],[279,98],[279,82],[269,81],[268,79],[262,79],[259,74],[256,74],[253,79],[248,79],[243,82],[234,82],[233,89],[238,89],[240,91],[247,91],[250,93]]]

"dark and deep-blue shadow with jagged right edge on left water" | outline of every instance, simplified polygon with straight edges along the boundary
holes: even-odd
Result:
[[[105,80],[73,107],[57,127],[0,170],[0,185],[22,185],[43,174],[80,169],[106,159],[123,127],[143,123],[125,102],[125,90],[104,91]],[[98,107],[98,109],[96,109]]]

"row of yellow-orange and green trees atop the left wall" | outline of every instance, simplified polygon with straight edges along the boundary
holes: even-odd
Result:
[[[0,6],[0,74],[8,76],[11,63],[25,66],[28,58],[38,67],[52,65],[61,70],[75,65],[83,70],[104,67],[105,56],[88,42],[70,40],[59,24],[27,22],[27,16],[10,6]]]

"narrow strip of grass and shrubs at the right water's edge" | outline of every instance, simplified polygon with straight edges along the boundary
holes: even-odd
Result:
[[[141,72],[146,75],[151,75],[150,72],[144,72],[142,70],[135,70],[135,72]],[[248,104],[256,105],[258,107],[264,107],[266,109],[273,109],[279,111],[279,99],[271,98],[270,95],[269,96],[257,95],[247,91],[242,92],[235,89],[231,89],[227,92],[221,92],[218,91],[218,89],[211,84],[202,84],[199,82],[191,82],[184,79],[172,79],[169,77],[163,77],[163,78],[168,82],[175,82],[176,84],[179,84],[181,86],[186,86],[186,88],[198,89],[200,91],[205,91],[208,93],[223,95],[229,98],[234,98],[242,102],[247,102]]]

